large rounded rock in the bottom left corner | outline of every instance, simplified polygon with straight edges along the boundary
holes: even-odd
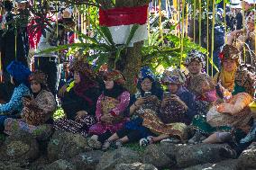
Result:
[[[39,156],[39,147],[36,139],[27,132],[16,133],[5,139],[0,148],[0,161],[17,163],[31,162]]]

